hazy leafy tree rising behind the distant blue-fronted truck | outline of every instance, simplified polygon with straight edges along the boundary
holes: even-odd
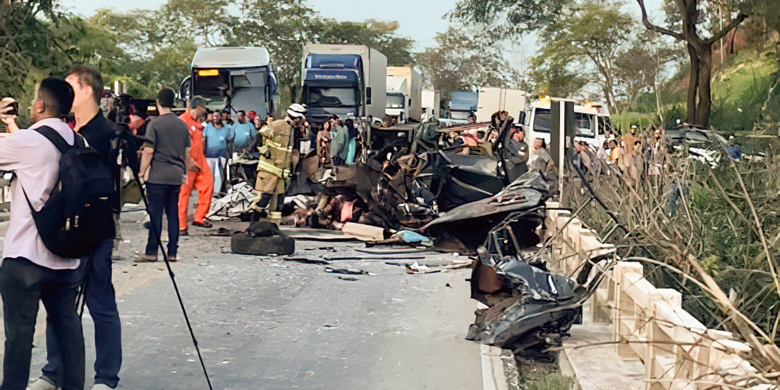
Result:
[[[453,90],[473,87],[508,87],[518,75],[503,56],[500,44],[466,30],[449,27],[434,37],[436,46],[415,55],[427,88],[441,90],[443,101]]]

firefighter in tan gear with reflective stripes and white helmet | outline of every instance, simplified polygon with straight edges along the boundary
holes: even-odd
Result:
[[[260,130],[263,146],[258,147],[257,181],[254,184],[257,197],[250,208],[264,218],[268,211],[276,209],[279,194],[285,193],[293,163],[293,132],[306,122],[306,108],[293,104],[287,109],[287,117],[271,122]],[[270,205],[270,207],[269,207]]]

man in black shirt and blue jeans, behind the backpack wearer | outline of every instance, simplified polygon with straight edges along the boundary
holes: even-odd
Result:
[[[65,79],[74,91],[73,114],[76,116],[74,128],[87,144],[99,154],[95,165],[101,165],[108,171],[110,183],[105,184],[105,196],[110,202],[107,210],[102,211],[105,218],[105,230],[101,239],[95,243],[94,250],[82,257],[84,263],[83,294],[95,327],[95,363],[94,390],[116,388],[119,383],[119,368],[122,366],[122,325],[119,322],[119,310],[116,307],[114,285],[112,283],[112,251],[114,246],[114,215],[119,211],[120,166],[119,142],[122,133],[119,125],[106,119],[100,109],[103,95],[103,78],[97,69],[89,66],[76,66]],[[80,172],[79,176],[86,176]],[[87,201],[90,209],[94,202]],[[86,289],[84,289],[86,287]],[[61,353],[62,342],[58,342],[55,332],[46,329],[46,353],[48,363],[43,368],[41,378],[30,385],[30,390],[55,390],[62,384],[67,374],[66,356]]]

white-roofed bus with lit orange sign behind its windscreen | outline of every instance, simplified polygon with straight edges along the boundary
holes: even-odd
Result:
[[[271,56],[265,48],[198,48],[179,97],[201,96],[212,110],[255,111],[261,118],[278,106]]]

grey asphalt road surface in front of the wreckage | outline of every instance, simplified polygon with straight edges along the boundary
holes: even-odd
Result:
[[[129,243],[114,266],[124,349],[119,388],[207,388],[165,264],[133,264],[146,239],[133,223],[142,215],[122,218]],[[475,308],[470,270],[408,275],[385,261],[332,261],[332,268],[372,274],[337,275],[326,265],[229,254],[229,238],[190,233],[173,268],[214,388],[482,388],[479,346],[463,339]],[[296,256],[361,247],[299,240]],[[431,255],[421,263],[452,259]],[[89,388],[94,333],[86,314],[84,330]],[[44,363],[42,336],[39,326],[31,376]]]

